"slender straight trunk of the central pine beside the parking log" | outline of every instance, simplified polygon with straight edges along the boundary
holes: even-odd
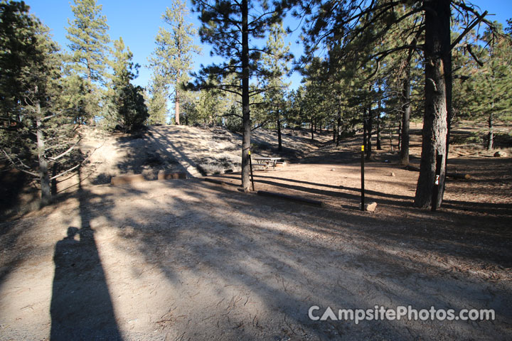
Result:
[[[250,108],[249,108],[249,9],[242,0],[242,188],[249,190]]]

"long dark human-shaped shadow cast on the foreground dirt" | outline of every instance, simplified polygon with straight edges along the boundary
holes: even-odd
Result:
[[[55,246],[53,261],[50,340],[122,340],[88,224],[68,227],[68,236]]]

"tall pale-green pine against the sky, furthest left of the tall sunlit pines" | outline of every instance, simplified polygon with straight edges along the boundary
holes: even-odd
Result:
[[[70,41],[71,68],[83,80],[81,98],[77,98],[79,102],[87,103],[82,119],[94,125],[95,114],[100,112],[101,87],[106,83],[109,26],[107,18],[102,16],[102,6],[97,5],[96,0],[74,0],[74,4],[71,10],[75,18],[73,21],[68,19],[66,38]]]

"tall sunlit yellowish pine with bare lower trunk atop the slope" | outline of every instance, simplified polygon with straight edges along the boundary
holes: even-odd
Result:
[[[171,8],[166,9],[162,15],[164,21],[171,27],[170,31],[159,28],[156,36],[156,49],[149,58],[153,68],[157,87],[164,87],[174,91],[174,117],[176,124],[180,124],[181,87],[188,82],[188,72],[192,70],[194,53],[201,49],[193,44],[196,30],[186,20],[186,2],[173,0]]]

